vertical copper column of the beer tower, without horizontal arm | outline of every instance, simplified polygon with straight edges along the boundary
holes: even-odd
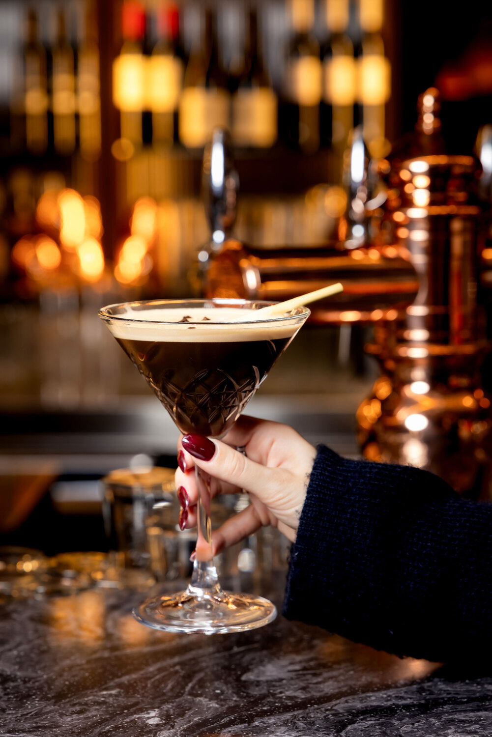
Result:
[[[444,152],[438,91],[418,104],[415,136],[380,163],[387,201],[373,217],[373,242],[405,248],[419,288],[394,321],[375,326],[367,349],[381,377],[358,409],[358,439],[366,458],[423,467],[458,492],[490,498],[491,400],[480,374],[490,343],[478,296],[484,180],[477,158]],[[486,162],[485,134],[482,142]]]

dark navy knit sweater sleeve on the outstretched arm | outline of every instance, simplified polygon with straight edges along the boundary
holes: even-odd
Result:
[[[492,505],[432,473],[320,447],[283,613],[399,655],[490,657]]]

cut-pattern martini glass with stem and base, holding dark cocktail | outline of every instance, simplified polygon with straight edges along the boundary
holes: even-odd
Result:
[[[114,338],[181,433],[220,439],[308,318],[306,307],[263,318],[271,302],[242,299],[151,300],[100,311]],[[134,609],[135,618],[170,632],[239,632],[274,620],[268,599],[221,589],[212,558],[210,477],[195,467],[198,540],[183,592]]]

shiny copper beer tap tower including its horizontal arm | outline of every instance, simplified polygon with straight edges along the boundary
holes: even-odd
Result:
[[[313,320],[342,324],[348,316],[374,324],[367,351],[381,376],[357,411],[364,456],[429,469],[458,492],[488,498],[492,421],[480,376],[490,349],[479,299],[487,232],[478,196],[482,169],[474,156],[445,153],[436,89],[420,96],[418,108],[415,133],[376,165],[354,132],[347,157],[364,158],[364,175],[353,181],[350,172],[361,166],[348,161],[347,213],[337,242],[265,250],[226,231],[209,251],[204,292],[274,300],[342,281],[343,295],[317,305]],[[215,135],[226,144],[223,133]],[[386,185],[384,201],[371,192],[375,173]],[[226,179],[237,182],[224,172]],[[207,173],[204,185],[207,192]],[[232,222],[229,212],[229,227]],[[211,225],[212,232],[219,227]]]

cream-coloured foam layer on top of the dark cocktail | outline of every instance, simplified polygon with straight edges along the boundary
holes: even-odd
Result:
[[[180,322],[189,317],[187,323]],[[204,318],[208,318],[204,320]],[[145,322],[141,322],[145,320]],[[237,321],[248,321],[246,324]],[[153,340],[161,343],[232,343],[246,340],[291,338],[302,318],[262,320],[258,310],[235,307],[188,307],[187,310],[128,310],[108,322],[120,340]],[[234,324],[231,324],[234,323]],[[252,323],[257,323],[256,325]]]

